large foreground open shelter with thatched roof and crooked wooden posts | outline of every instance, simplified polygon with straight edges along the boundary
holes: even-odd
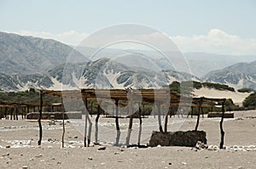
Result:
[[[168,88],[161,88],[161,89],[81,89],[81,90],[70,90],[70,91],[53,91],[53,90],[40,90],[40,98],[41,98],[41,104],[43,105],[43,95],[44,94],[50,94],[55,95],[59,97],[69,97],[73,99],[83,99],[84,106],[85,106],[85,127],[84,127],[84,147],[89,146],[90,144],[90,135],[91,135],[91,127],[92,122],[90,121],[90,115],[88,112],[88,100],[97,100],[98,103],[102,102],[109,102],[113,101],[113,103],[116,106],[115,109],[115,124],[116,124],[116,130],[117,130],[117,137],[116,137],[116,144],[119,144],[119,138],[120,138],[120,129],[119,129],[119,101],[125,100],[128,108],[129,108],[129,127],[126,137],[126,144],[129,145],[129,140],[131,136],[131,128],[132,128],[132,119],[133,119],[133,113],[132,108],[134,106],[134,103],[136,102],[148,102],[152,103],[156,106],[157,110],[157,116],[159,121],[159,129],[160,132],[167,132],[167,123],[168,123],[168,114],[166,114],[166,121],[165,121],[165,131],[163,130],[162,124],[161,124],[161,115],[160,115],[160,105],[165,105],[169,109],[172,109],[173,107],[188,107],[188,108],[198,108],[198,115],[197,115],[197,121],[195,126],[195,131],[197,130],[199,126],[200,121],[200,115],[202,108],[212,108],[214,105],[218,104],[222,107],[222,117],[220,121],[220,132],[221,132],[221,141],[220,141],[220,149],[223,149],[224,145],[224,130],[223,130],[223,121],[224,121],[224,102],[226,99],[209,99],[209,98],[195,98],[189,95],[181,95],[179,93],[171,92]],[[42,114],[42,111],[40,111]],[[39,115],[40,116],[40,115]],[[98,120],[100,117],[100,104],[98,104],[98,112],[96,116],[96,142],[97,142],[97,132],[98,132]],[[138,145],[140,144],[140,135],[142,132],[142,118],[140,115],[139,110],[139,120],[140,120],[140,127],[139,127],[139,136],[138,136]],[[39,127],[41,126],[40,118],[38,119]],[[87,134],[87,126],[88,127],[88,134]],[[64,124],[64,123],[63,123]],[[64,131],[65,128],[63,126],[63,137],[64,138]],[[40,127],[40,134],[39,134],[39,141],[38,144],[41,143],[42,138],[42,127]],[[87,143],[86,143],[87,142]],[[62,139],[62,143],[64,143]],[[63,146],[63,144],[62,144]]]

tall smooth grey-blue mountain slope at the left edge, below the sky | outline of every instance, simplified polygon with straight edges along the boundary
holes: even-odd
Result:
[[[0,31],[0,72],[3,74],[44,73],[65,63],[71,52],[74,61],[84,60],[83,54],[61,42]]]

